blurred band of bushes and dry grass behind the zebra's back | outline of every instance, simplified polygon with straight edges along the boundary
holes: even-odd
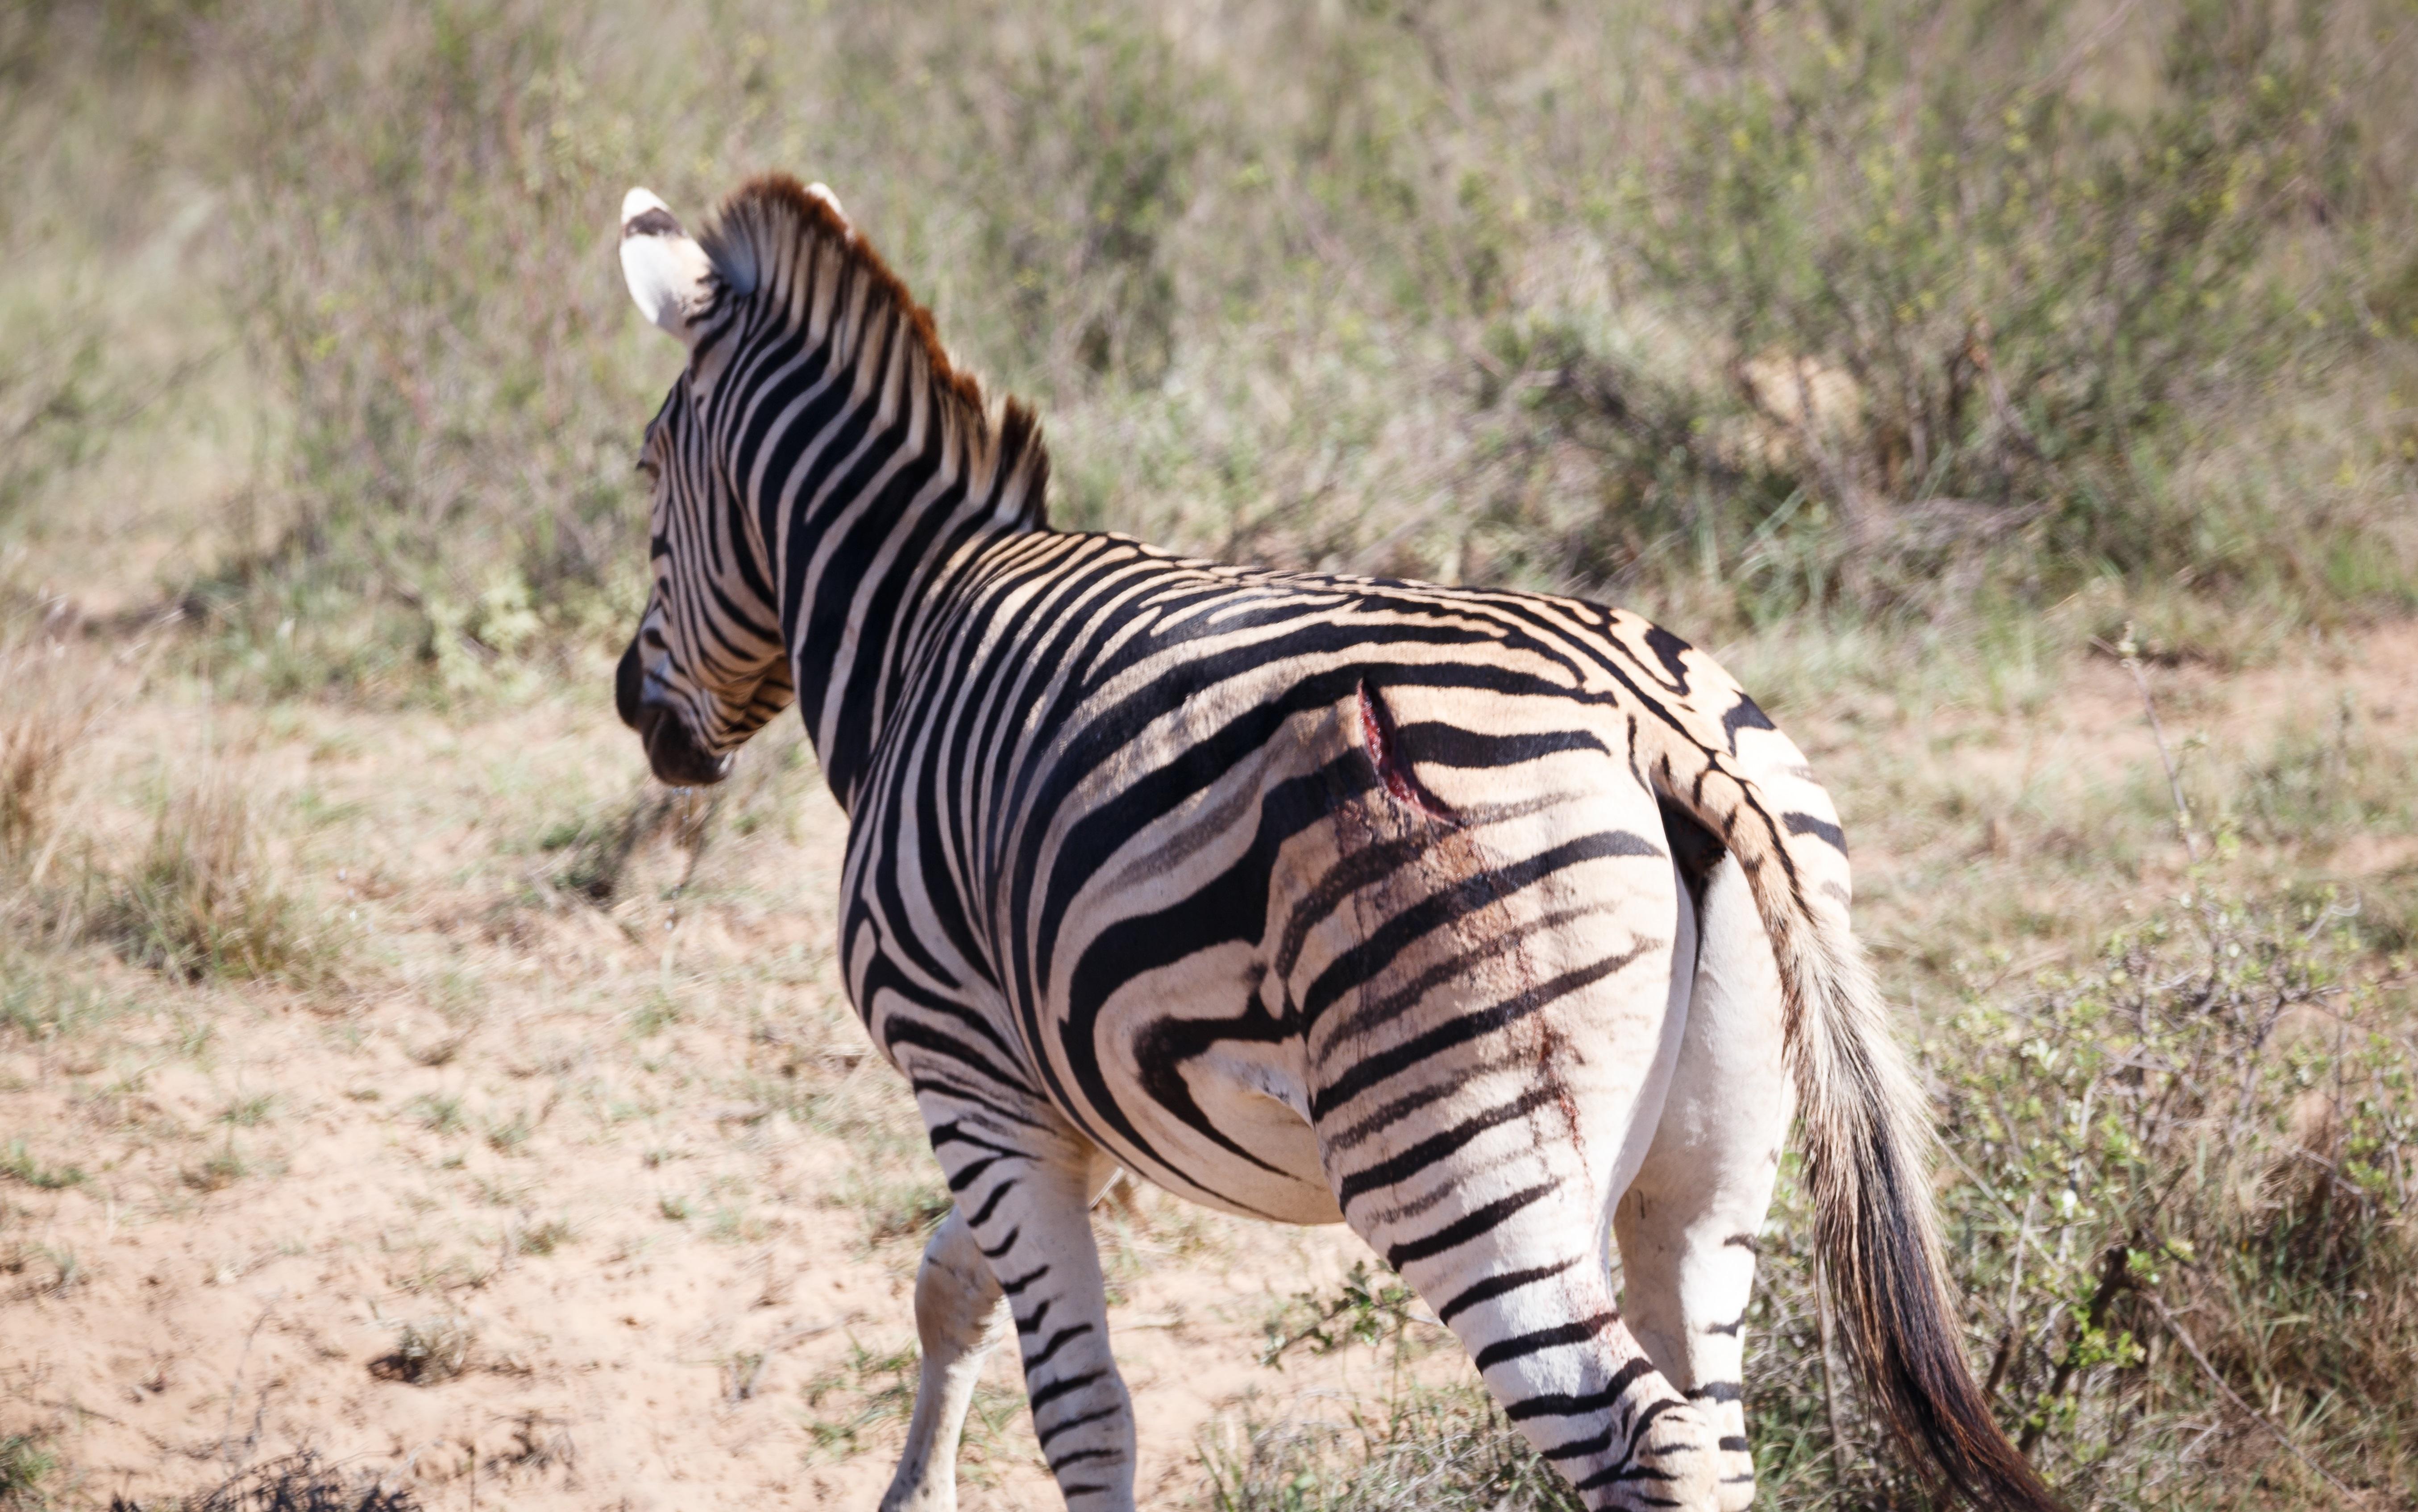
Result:
[[[27,290],[208,186],[179,341],[232,326],[256,440],[169,587],[268,691],[626,628],[672,353],[612,208],[764,167],[1040,401],[1071,524],[1700,628],[2418,601],[2418,29],[2367,2],[143,14],[22,27]],[[31,304],[0,529],[150,391],[109,297]]]

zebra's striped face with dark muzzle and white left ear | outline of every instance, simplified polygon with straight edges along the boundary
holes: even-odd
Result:
[[[820,186],[817,186],[820,188]],[[834,203],[837,210],[837,203]],[[716,258],[643,188],[621,200],[621,273],[648,321],[689,362],[646,428],[638,471],[653,488],[646,616],[614,674],[621,722],[665,783],[721,783],[750,734],[796,698],[762,541],[713,444],[713,389],[752,292],[742,256]]]

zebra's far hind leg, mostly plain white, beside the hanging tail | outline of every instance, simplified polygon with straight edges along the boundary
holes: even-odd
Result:
[[[1772,947],[1746,874],[1722,860],[1705,882],[1702,949],[1664,1116],[1613,1210],[1622,1309],[1654,1365],[1712,1418],[1722,1512],[1755,1500],[1741,1382],[1755,1229],[1794,1104],[1780,1043]]]

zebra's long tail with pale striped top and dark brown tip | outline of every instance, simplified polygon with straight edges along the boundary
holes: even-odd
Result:
[[[1845,874],[1843,853],[1816,853],[1818,841],[1794,833],[1797,824],[1784,828],[1768,795],[1729,763],[1671,787],[1664,797],[1739,857],[1772,940],[1814,1244],[1872,1403],[1898,1442],[1930,1456],[1971,1502],[2060,1512],[1963,1357],[1932,1212],[1925,1097],[1847,930],[1845,889],[1823,896],[1811,886],[1826,872]]]

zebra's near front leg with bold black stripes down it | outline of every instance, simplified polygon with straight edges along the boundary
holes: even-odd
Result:
[[[1008,1128],[926,1101],[933,1152],[1016,1324],[1042,1459],[1074,1512],[1134,1505],[1134,1403],[1107,1350],[1091,1205],[1115,1162],[1032,1109]],[[938,1116],[936,1116],[938,1113]]]

